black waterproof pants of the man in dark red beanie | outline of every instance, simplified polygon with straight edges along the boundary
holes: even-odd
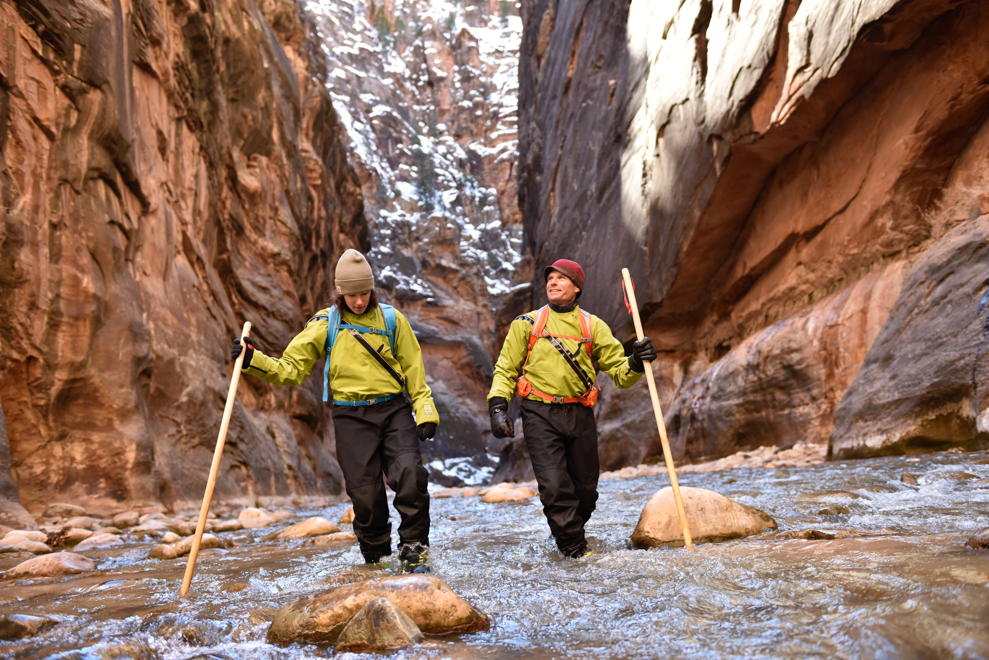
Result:
[[[543,513],[557,546],[570,553],[584,545],[584,524],[597,502],[597,426],[580,403],[523,400],[522,430],[539,483]]]

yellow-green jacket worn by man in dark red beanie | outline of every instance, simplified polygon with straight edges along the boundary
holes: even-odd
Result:
[[[580,313],[581,308],[577,305],[572,311],[562,314],[551,308],[544,329],[554,335],[580,337]],[[538,309],[526,314],[533,320],[538,315]],[[600,370],[611,376],[611,379],[619,387],[631,387],[638,382],[643,372],[632,371],[629,368],[625,349],[611,334],[611,328],[594,315],[590,316],[590,328],[593,339],[590,355],[593,356],[593,362],[597,363]],[[488,394],[489,401],[495,396],[503,396],[506,400],[511,400],[512,394],[515,393],[515,380],[519,376],[522,363],[525,362],[525,350],[531,332],[532,324],[525,319],[517,318],[511,322],[508,336],[505,337],[504,346],[501,348],[501,355],[497,359],[497,364],[494,365],[494,381],[492,382],[492,391]],[[560,343],[571,354],[578,347],[578,343],[572,339],[561,339]],[[577,362],[593,379],[594,368],[583,346]],[[540,339],[536,342],[532,349],[532,355],[529,356],[529,364],[525,368],[525,377],[529,379],[534,389],[551,396],[572,397],[584,394],[584,383],[581,382],[581,378],[570,368],[564,357],[548,339]],[[525,398],[543,401],[535,394],[529,394]]]

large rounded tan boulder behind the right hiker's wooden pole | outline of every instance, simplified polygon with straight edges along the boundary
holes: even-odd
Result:
[[[729,538],[760,534],[776,529],[776,521],[764,511],[740,504],[704,488],[680,487],[683,508],[695,542],[716,542]],[[682,542],[673,489],[669,486],[657,492],[639,516],[632,533],[636,547],[652,547]]]

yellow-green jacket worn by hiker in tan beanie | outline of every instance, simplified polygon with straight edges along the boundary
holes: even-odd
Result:
[[[323,309],[316,316],[328,314],[329,310]],[[341,316],[341,323],[385,330],[385,314],[378,306],[360,316],[348,311],[344,311]],[[426,384],[419,342],[415,339],[408,320],[398,309],[395,310],[395,317],[395,350],[398,356],[392,354],[392,345],[387,336],[362,333],[362,337],[376,349],[381,346],[379,353],[395,371],[405,377],[408,396],[412,399],[412,408],[415,410],[415,423],[439,424],[432,390]],[[298,385],[325,355],[326,319],[315,319],[296,335],[281,358],[269,358],[255,349],[250,365],[244,367],[243,371],[276,385]],[[333,345],[333,355],[329,361],[329,386],[333,391],[333,398],[338,401],[366,401],[402,392],[402,385],[347,330],[339,331]]]

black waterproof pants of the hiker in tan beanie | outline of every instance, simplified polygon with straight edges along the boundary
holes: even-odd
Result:
[[[399,542],[429,544],[429,473],[422,465],[412,407],[405,397],[371,406],[333,405],[336,458],[354,505],[361,552],[392,553],[392,524],[382,474],[402,517]]]

